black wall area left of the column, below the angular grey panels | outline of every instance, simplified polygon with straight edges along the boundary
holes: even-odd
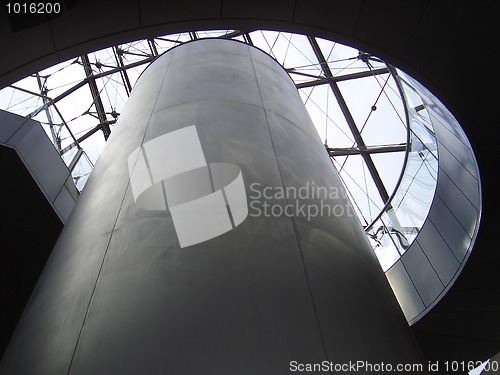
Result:
[[[3,354],[63,224],[14,149],[0,146],[0,170]]]

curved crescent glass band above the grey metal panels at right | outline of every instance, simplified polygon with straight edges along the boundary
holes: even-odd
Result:
[[[428,113],[416,90],[403,80],[400,83],[410,124],[405,170],[390,203],[367,231],[384,271],[397,262],[420,233],[438,176],[437,140]]]

